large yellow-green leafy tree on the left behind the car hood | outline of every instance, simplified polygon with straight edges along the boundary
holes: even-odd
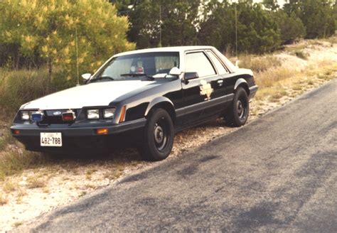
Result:
[[[114,53],[134,48],[126,38],[127,17],[117,16],[107,1],[3,0],[0,11],[0,41],[17,45],[19,57],[38,55],[48,65],[49,82],[58,67],[66,80],[75,83],[76,47],[80,72],[92,71]]]

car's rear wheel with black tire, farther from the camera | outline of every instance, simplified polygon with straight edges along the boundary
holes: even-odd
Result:
[[[242,87],[238,87],[232,104],[225,113],[225,121],[229,126],[240,127],[246,124],[250,113],[250,102],[247,92]]]

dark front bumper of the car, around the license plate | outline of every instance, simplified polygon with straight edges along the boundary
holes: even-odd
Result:
[[[139,133],[144,128],[146,119],[137,119],[120,124],[50,124],[38,126],[37,124],[14,124],[11,133],[18,141],[26,146],[28,151],[46,151],[60,153],[82,153],[92,151],[107,151],[124,145],[137,143]],[[97,135],[96,129],[108,129],[105,135]],[[19,134],[14,134],[18,130]],[[49,147],[40,145],[40,133],[60,132],[63,146]]]

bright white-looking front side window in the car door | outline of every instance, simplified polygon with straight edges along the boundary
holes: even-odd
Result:
[[[185,72],[198,72],[199,77],[216,74],[213,65],[203,52],[186,54]]]

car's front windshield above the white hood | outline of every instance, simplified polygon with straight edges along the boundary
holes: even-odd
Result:
[[[90,82],[109,80],[156,80],[179,67],[178,52],[136,53],[112,58]]]

